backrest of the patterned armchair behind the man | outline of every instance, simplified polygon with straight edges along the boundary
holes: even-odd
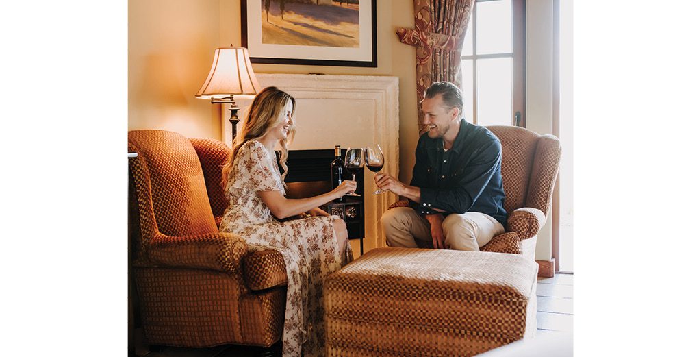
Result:
[[[502,180],[507,213],[522,207],[548,216],[558,174],[561,146],[552,135],[539,135],[522,127],[487,126],[502,143]]]

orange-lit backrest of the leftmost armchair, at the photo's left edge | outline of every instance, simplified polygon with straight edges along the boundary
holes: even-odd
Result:
[[[218,232],[204,174],[190,140],[164,130],[129,132],[129,159],[143,239]]]

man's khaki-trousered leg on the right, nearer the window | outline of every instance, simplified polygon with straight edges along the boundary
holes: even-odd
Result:
[[[450,249],[478,251],[494,236],[504,233],[504,227],[487,214],[466,212],[449,214],[443,220],[443,233]]]

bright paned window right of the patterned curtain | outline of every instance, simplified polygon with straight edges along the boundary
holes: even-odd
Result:
[[[467,121],[525,126],[524,0],[476,0],[462,48]]]

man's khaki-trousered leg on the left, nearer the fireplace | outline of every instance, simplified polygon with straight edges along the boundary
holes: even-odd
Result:
[[[409,207],[396,207],[382,214],[380,223],[390,247],[417,248],[415,238],[431,240],[429,222]]]

